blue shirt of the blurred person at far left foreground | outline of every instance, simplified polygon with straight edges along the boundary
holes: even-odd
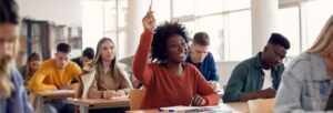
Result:
[[[14,89],[9,99],[0,97],[0,113],[33,113],[20,72],[12,69],[10,73]]]

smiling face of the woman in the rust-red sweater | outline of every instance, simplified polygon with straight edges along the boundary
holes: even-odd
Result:
[[[171,62],[181,63],[188,55],[188,45],[180,34],[173,34],[167,40],[167,58]]]

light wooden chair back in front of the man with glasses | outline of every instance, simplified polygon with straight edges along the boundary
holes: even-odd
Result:
[[[248,101],[250,113],[274,113],[275,99],[259,99]]]

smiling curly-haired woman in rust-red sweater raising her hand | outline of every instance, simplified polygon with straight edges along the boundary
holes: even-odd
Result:
[[[195,66],[184,63],[188,34],[178,22],[165,22],[155,29],[153,12],[142,19],[141,34],[133,73],[147,88],[141,109],[174,105],[218,105],[216,92]],[[151,51],[152,63],[148,63]]]

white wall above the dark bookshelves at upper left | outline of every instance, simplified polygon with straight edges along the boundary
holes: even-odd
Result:
[[[21,17],[81,25],[81,0],[17,0]]]

